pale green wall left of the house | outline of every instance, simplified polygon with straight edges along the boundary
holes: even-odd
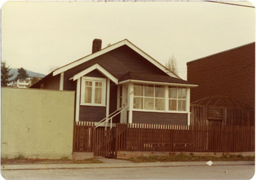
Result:
[[[72,158],[74,91],[1,88],[1,158]]]

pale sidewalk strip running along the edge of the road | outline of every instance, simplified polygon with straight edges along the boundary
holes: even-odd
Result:
[[[218,165],[255,165],[255,161],[213,161]],[[131,167],[182,167],[208,166],[206,161],[189,162],[156,162],[156,163],[87,163],[87,164],[31,164],[31,165],[1,165],[1,170],[42,170],[42,169],[106,169]]]

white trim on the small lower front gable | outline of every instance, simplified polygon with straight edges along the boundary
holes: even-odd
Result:
[[[93,70],[98,70],[100,71],[100,73],[102,73],[103,75],[105,75],[106,77],[108,77],[110,80],[112,80],[113,82],[115,82],[115,84],[118,84],[118,79],[116,77],[114,77],[111,73],[109,73],[109,71],[107,71],[106,69],[104,69],[102,66],[100,66],[100,64],[94,64],[93,66],[90,66],[89,68],[87,68],[86,70],[83,70],[79,73],[77,73],[76,75],[74,75],[74,77],[71,77],[69,80],[77,80],[80,77],[86,75],[87,73],[90,73]]]

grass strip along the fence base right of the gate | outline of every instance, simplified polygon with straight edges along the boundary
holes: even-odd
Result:
[[[222,155],[220,157],[216,156],[194,156],[194,154],[186,155],[180,153],[175,156],[140,156],[138,158],[129,158],[129,161],[134,163],[140,162],[170,162],[170,161],[254,161],[255,156],[242,156],[242,155]]]

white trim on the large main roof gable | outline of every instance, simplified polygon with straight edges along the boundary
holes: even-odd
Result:
[[[135,52],[137,52],[138,54],[140,54],[142,57],[144,57],[145,59],[147,59],[148,61],[150,61],[150,63],[154,64],[155,66],[157,66],[157,68],[159,68],[160,70],[164,71],[164,73],[170,75],[170,77],[175,77],[180,79],[179,76],[175,75],[175,73],[173,73],[172,71],[168,70],[166,67],[164,67],[161,63],[157,62],[154,58],[148,56],[148,54],[146,54],[145,52],[143,52],[143,50],[139,49],[138,47],[136,47],[136,45],[132,44],[130,41],[128,40],[122,40],[119,41],[118,43],[115,43],[113,45],[110,45],[109,47],[106,47],[102,50],[99,50],[98,52],[95,52],[89,56],[83,57],[77,61],[74,61],[73,63],[67,64],[61,68],[58,68],[57,70],[53,71],[52,76],[58,75],[59,73],[62,73],[63,71],[67,71],[71,68],[74,68],[75,66],[78,66],[79,64],[85,63],[86,61],[89,61],[95,57],[98,57],[102,54],[105,54],[111,50],[114,50],[118,47],[121,47],[122,45],[127,45],[128,47],[130,47],[132,50],[134,50]]]

